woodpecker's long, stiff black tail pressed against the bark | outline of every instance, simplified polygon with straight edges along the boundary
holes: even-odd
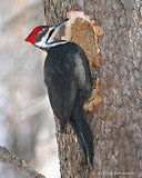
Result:
[[[87,119],[83,115],[83,109],[80,108],[79,112],[79,110],[77,111],[75,108],[75,112],[73,110],[69,119],[69,122],[77,135],[81,149],[83,150],[85,165],[88,165],[88,158],[87,158],[87,152],[88,152],[90,165],[93,167],[93,157],[94,157],[93,136],[87,122]]]

